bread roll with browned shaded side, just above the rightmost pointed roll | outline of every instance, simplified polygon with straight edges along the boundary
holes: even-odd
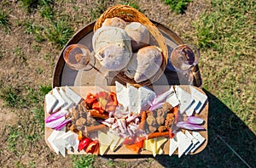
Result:
[[[148,46],[150,36],[145,25],[139,22],[131,22],[125,26],[125,31],[131,37],[131,48],[133,52],[137,52],[139,48]]]

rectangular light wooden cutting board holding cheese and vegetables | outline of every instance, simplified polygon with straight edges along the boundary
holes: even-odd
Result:
[[[162,92],[166,92],[167,90],[169,90],[170,87],[171,86],[154,86],[151,89],[153,89],[154,92],[156,92],[157,94],[160,94]],[[189,86],[179,86],[179,87],[182,87],[184,90],[186,90],[187,92],[190,93]],[[77,92],[82,98],[86,98],[86,95],[89,92],[91,92],[91,93],[96,93],[96,92],[100,92],[100,91],[108,91],[108,92],[112,91],[112,92],[115,92],[115,87],[113,87],[113,86],[104,86],[104,87],[70,87],[70,88],[72,88],[74,92]],[[195,87],[195,88],[198,91],[200,91],[203,94],[205,94],[205,92],[203,92],[200,88],[198,88],[198,87]],[[46,113],[45,104],[44,104],[44,117],[45,117],[45,119],[48,116],[49,116],[49,114]],[[201,119],[205,120],[204,125],[202,125],[205,128],[205,131],[200,131],[200,134],[201,134],[202,137],[204,137],[206,139],[206,141],[201,145],[200,148],[195,150],[195,153],[192,153],[192,154],[198,154],[204,148],[207,147],[207,142],[208,142],[208,132],[207,132],[208,100],[207,100],[206,104],[203,106],[203,109],[201,109],[201,113],[198,114],[198,115],[196,114],[195,116],[200,117]],[[47,138],[49,137],[51,132],[53,132],[53,129],[48,128],[48,127],[44,127],[45,142],[47,143],[49,148],[51,148],[51,146],[50,146],[49,142],[47,141]],[[163,148],[164,154],[169,154],[169,145],[170,145],[170,139],[168,138],[168,141],[166,141],[166,143],[164,143],[161,146],[161,148]],[[67,154],[85,154],[85,152],[84,151],[81,151],[81,152],[70,152],[70,151],[67,151]],[[132,152],[130,149],[125,148],[125,146],[121,146],[121,147],[119,147],[116,150],[116,152],[112,152],[111,150],[108,150],[108,152],[106,154],[135,154],[135,153]],[[150,151],[148,151],[148,150],[143,150],[140,154],[152,154],[152,153]],[[177,154],[177,152],[175,152],[174,154]]]

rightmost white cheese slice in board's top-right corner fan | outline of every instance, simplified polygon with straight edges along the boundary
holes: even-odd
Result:
[[[207,95],[198,91],[195,87],[191,87],[191,86],[189,86],[189,87],[190,87],[190,92],[191,92],[192,98],[194,98],[200,102],[195,108],[195,113],[198,114],[201,112],[201,108],[207,101]]]

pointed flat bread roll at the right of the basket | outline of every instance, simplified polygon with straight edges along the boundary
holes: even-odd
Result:
[[[134,81],[142,82],[160,69],[163,61],[163,56],[160,50],[155,46],[148,46],[138,50],[137,52],[137,70],[134,76]]]

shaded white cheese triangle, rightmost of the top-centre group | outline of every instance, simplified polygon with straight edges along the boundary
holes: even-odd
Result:
[[[141,104],[141,111],[148,109],[150,106],[148,102],[152,102],[154,100],[156,96],[155,92],[153,92],[148,87],[139,87],[138,92]]]

